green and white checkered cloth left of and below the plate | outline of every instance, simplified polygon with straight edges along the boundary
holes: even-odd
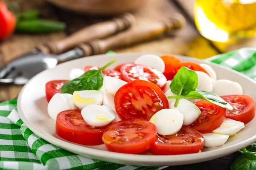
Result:
[[[161,170],[86,158],[41,139],[23,124],[17,100],[0,103],[0,169],[6,170]]]

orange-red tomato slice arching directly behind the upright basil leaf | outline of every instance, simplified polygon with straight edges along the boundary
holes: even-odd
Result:
[[[165,75],[167,80],[172,80],[182,66],[185,66],[194,71],[202,71],[202,72],[208,74],[207,71],[204,70],[204,68],[202,68],[200,65],[198,65],[195,62],[177,63],[176,65],[172,65],[172,67],[169,67],[168,69],[166,69],[166,71],[164,71],[163,74]]]

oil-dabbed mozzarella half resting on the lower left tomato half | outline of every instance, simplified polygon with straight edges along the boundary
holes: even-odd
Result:
[[[108,125],[115,119],[111,108],[100,105],[88,105],[82,109],[81,114],[86,123],[95,127]]]

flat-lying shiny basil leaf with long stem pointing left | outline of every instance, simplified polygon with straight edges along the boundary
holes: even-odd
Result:
[[[195,90],[195,91],[189,92],[189,94],[187,94],[187,95],[168,96],[168,99],[187,99],[187,98],[203,99],[203,100],[206,100],[207,102],[213,103],[222,108],[226,108],[230,111],[233,110],[233,107],[228,102],[226,102],[220,96],[218,96],[214,93],[211,93],[209,91]]]

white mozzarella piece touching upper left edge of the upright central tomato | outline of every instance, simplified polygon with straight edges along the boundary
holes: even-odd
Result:
[[[115,96],[116,91],[125,84],[127,84],[127,82],[114,77],[104,76],[103,79],[104,88],[113,96]]]

